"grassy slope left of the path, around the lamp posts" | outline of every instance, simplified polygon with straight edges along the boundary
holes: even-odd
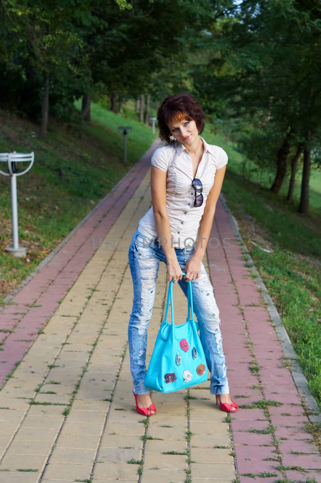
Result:
[[[92,117],[91,123],[79,125],[51,121],[46,138],[39,140],[36,124],[0,110],[0,152],[35,152],[31,170],[17,179],[19,242],[27,247],[26,259],[4,251],[12,246],[11,188],[9,177],[0,175],[0,304],[156,139],[151,127],[133,119],[129,123],[95,104]],[[128,124],[133,129],[124,163],[117,126]]]

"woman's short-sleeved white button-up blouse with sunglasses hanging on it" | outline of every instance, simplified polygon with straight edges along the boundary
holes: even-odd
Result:
[[[167,172],[166,211],[172,232],[171,243],[175,248],[190,247],[196,242],[215,171],[227,164],[228,157],[222,148],[207,144],[203,138],[201,140],[204,143],[204,154],[195,176],[203,185],[204,201],[200,207],[194,207],[193,165],[190,153],[182,143],[175,140],[161,146],[151,159],[153,166]],[[150,234],[150,238],[157,236],[153,207],[140,219],[139,226]]]

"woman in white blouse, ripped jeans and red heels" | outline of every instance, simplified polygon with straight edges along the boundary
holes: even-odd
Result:
[[[167,280],[178,283],[186,296],[187,282],[192,281],[194,312],[211,373],[210,393],[222,411],[234,412],[238,406],[229,395],[219,309],[202,263],[227,155],[200,137],[204,112],[192,97],[178,94],[165,99],[157,120],[165,145],[151,160],[152,207],[140,219],[129,249],[134,298],[128,339],[136,409],[146,416],[156,412],[144,380],[147,327],[162,261]]]

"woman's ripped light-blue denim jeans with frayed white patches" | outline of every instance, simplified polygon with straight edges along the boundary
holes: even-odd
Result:
[[[178,263],[184,271],[186,262],[195,251],[193,247],[175,249]],[[129,248],[129,265],[133,281],[134,298],[128,326],[128,342],[131,360],[131,375],[136,394],[147,394],[144,386],[146,376],[147,327],[152,316],[156,292],[156,280],[160,260],[166,263],[163,249],[157,239],[147,238],[138,230],[134,233]],[[178,281],[187,297],[187,282]],[[222,336],[219,328],[219,309],[214,297],[214,290],[209,282],[204,265],[201,275],[192,280],[193,306],[200,323],[200,337],[204,348],[207,367],[211,373],[210,393],[228,394],[225,356]]]

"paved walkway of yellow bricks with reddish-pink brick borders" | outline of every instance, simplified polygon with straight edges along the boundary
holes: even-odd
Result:
[[[154,393],[150,419],[133,410],[127,251],[150,206],[153,149],[0,313],[0,483],[321,482],[308,416],[221,202],[204,262],[232,396],[254,408],[226,418],[204,383]],[[164,311],[162,265],[149,355]],[[175,291],[175,312],[185,313]]]

